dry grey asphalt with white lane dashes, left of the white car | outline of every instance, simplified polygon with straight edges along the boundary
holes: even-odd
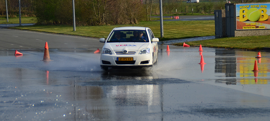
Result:
[[[48,42],[49,48],[102,48],[104,43],[97,38],[49,34],[35,31],[20,31],[0,28],[0,50],[43,49]]]

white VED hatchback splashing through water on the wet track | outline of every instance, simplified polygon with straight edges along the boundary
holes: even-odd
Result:
[[[147,27],[114,28],[106,40],[100,38],[100,42],[105,42],[100,67],[104,70],[108,67],[152,67],[157,63],[158,41]]]

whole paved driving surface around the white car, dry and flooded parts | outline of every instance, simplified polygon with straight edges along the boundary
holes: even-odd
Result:
[[[1,120],[268,120],[262,52],[159,45],[152,69],[100,69],[95,38],[0,29]],[[4,33],[4,34],[3,34]],[[43,59],[48,42],[51,60]],[[93,43],[93,44],[92,44]],[[85,46],[86,45],[86,46]],[[22,47],[21,47],[22,46]],[[23,56],[14,56],[15,50]],[[198,64],[201,54],[206,64]],[[254,73],[254,61],[259,72]]]

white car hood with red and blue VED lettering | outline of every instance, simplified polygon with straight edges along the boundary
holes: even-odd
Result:
[[[106,43],[104,48],[110,49],[111,51],[119,50],[136,50],[140,51],[143,48],[147,48],[149,43],[147,42],[112,42]]]

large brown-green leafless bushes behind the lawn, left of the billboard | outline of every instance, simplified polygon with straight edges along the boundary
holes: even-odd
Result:
[[[73,24],[72,1],[36,0],[38,24]],[[143,18],[140,0],[76,0],[77,25],[136,24]]]

